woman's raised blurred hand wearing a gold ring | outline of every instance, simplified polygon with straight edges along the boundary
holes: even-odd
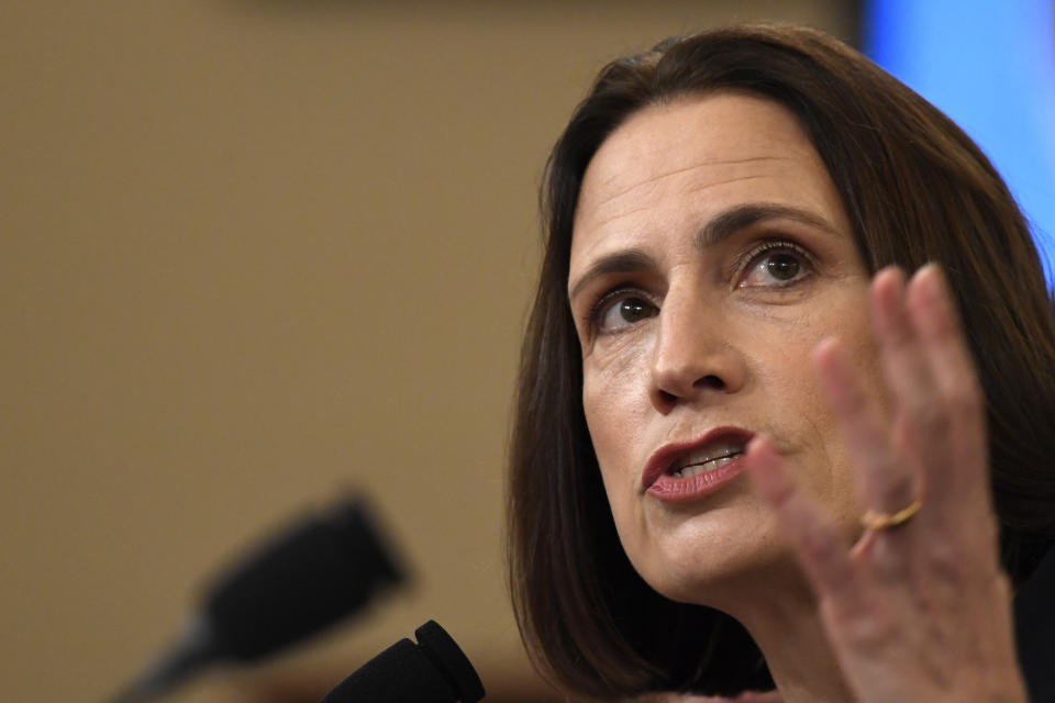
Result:
[[[985,400],[942,272],[925,266],[907,284],[898,269],[880,271],[871,314],[888,409],[863,390],[836,341],[821,343],[814,361],[862,502],[879,522],[847,548],[845,531],[799,490],[764,437],[748,449],[756,489],[812,582],[858,701],[1023,703],[989,494]],[[917,500],[917,514],[882,523]]]

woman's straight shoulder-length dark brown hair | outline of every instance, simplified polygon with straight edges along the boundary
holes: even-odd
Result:
[[[821,33],[740,26],[670,40],[601,71],[549,156],[542,192],[546,247],[510,449],[510,584],[536,665],[580,693],[773,687],[738,623],[660,596],[624,555],[582,414],[567,300],[573,217],[598,147],[646,105],[721,90],[797,116],[871,271],[944,266],[988,401],[1001,553],[1014,582],[1055,538],[1055,325],[1029,227],[986,156]]]

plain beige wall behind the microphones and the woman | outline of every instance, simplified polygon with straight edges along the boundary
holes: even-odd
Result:
[[[615,54],[731,19],[845,36],[842,5],[4,2],[4,699],[100,700],[226,557],[348,487],[414,588],[174,700],[325,688],[430,617],[490,688],[528,677],[502,461],[547,149]]]

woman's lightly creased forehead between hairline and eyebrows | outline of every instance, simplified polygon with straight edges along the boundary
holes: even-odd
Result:
[[[668,231],[679,217],[699,226],[744,202],[814,211],[848,232],[823,161],[781,105],[742,93],[651,105],[615,130],[586,170],[573,267],[599,237]]]

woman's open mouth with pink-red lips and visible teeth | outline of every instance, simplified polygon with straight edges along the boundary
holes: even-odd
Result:
[[[754,433],[715,427],[699,439],[659,447],[642,473],[642,488],[665,502],[682,503],[710,495],[740,476]]]

